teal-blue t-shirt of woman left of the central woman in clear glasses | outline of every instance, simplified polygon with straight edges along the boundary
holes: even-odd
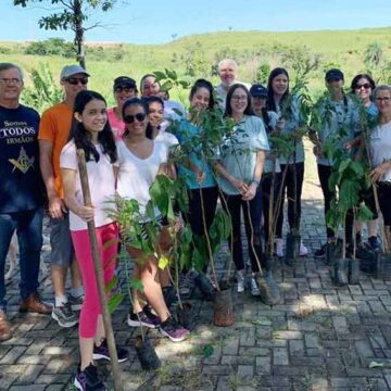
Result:
[[[192,139],[200,137],[202,129],[189,123],[187,119],[181,119],[179,122],[179,126],[177,126],[174,130],[174,135],[177,137],[179,144],[191,142]],[[186,186],[189,189],[199,189],[200,187],[207,188],[217,185],[216,180],[214,179],[214,173],[211,168],[210,162],[207,162],[206,157],[203,157],[201,154],[202,151],[197,151],[195,149],[189,154],[191,162],[206,175],[205,180],[203,180],[201,184],[195,180],[197,175],[191,169],[180,164],[178,165],[178,174],[185,178]]]

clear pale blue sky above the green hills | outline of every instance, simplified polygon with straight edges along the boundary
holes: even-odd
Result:
[[[38,20],[55,10],[50,0],[28,8],[0,0],[0,41],[72,39],[71,31],[40,29]],[[391,0],[117,0],[94,12],[87,41],[164,43],[190,34],[228,30],[291,31],[391,26]]]

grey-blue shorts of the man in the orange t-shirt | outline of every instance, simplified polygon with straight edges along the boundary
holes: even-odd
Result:
[[[70,214],[64,219],[52,218],[50,220],[50,244],[52,265],[67,267],[75,257],[70,230]]]

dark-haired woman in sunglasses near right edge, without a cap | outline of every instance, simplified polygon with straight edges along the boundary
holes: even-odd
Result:
[[[360,100],[362,101],[365,113],[367,114],[367,123],[369,126],[374,126],[374,122],[377,121],[377,116],[379,114],[378,108],[375,104],[375,102],[371,99],[371,94],[375,90],[375,81],[374,79],[367,75],[367,74],[360,74],[353,77],[352,84],[351,84],[351,91],[352,93],[356,94]],[[371,125],[370,125],[371,124]],[[361,143],[361,136],[357,136],[356,138],[357,144]],[[353,142],[354,143],[354,142]],[[367,223],[368,227],[368,244],[374,251],[381,250],[381,242],[378,238],[378,215],[376,211],[376,204],[374,199],[374,192],[373,189],[369,188],[367,192],[362,194],[363,200],[367,204],[367,206],[373,212],[374,218]],[[362,229],[363,229],[363,223],[357,222],[357,234],[356,234],[356,242],[357,244],[363,243],[362,239]]]

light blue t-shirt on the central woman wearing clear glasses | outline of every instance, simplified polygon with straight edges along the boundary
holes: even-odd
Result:
[[[234,127],[234,134],[224,138],[216,157],[227,173],[250,184],[254,177],[258,150],[269,150],[264,124],[255,115],[244,115]],[[226,194],[239,194],[239,191],[222,176],[217,176],[217,182]]]

